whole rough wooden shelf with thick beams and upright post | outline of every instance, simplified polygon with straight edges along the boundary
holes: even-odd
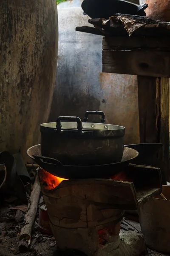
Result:
[[[170,180],[170,23],[132,15],[88,22],[95,28],[84,26],[76,30],[105,35],[102,72],[138,76],[140,143],[164,144],[158,158],[166,184]]]

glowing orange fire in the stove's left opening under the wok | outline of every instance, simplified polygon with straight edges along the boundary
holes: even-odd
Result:
[[[46,172],[44,169],[40,169],[39,175],[43,187],[48,190],[56,188],[59,185],[59,183],[62,182],[62,180],[67,180],[54,176],[51,173]]]

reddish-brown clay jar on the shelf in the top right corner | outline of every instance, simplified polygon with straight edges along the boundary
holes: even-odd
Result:
[[[147,3],[146,15],[154,20],[170,21],[170,0],[140,0]]]

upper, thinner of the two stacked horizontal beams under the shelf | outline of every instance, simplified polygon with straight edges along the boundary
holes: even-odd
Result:
[[[170,51],[170,38],[168,37],[103,37],[102,49],[103,50],[158,50],[158,51]]]

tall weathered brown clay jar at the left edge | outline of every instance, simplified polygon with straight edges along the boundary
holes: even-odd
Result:
[[[0,1],[0,151],[39,143],[57,66],[56,0]]]

